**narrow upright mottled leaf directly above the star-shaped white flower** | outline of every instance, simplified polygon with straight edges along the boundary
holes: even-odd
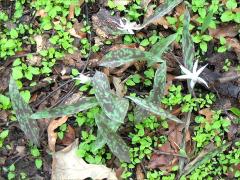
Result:
[[[194,59],[194,44],[191,34],[189,32],[190,14],[186,10],[183,21],[183,35],[182,35],[182,48],[183,48],[183,62],[184,66],[192,71]]]

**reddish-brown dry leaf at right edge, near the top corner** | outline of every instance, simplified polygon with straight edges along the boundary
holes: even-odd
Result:
[[[214,38],[235,37],[238,34],[239,25],[227,24],[219,26],[217,29],[209,29],[209,35]]]

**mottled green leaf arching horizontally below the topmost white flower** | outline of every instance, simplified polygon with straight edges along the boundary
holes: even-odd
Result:
[[[153,61],[153,59],[155,58],[149,52],[139,49],[123,48],[107,53],[103,57],[100,66],[114,68],[134,61]],[[154,61],[157,62],[157,59]],[[160,62],[162,62],[162,60],[160,60]]]

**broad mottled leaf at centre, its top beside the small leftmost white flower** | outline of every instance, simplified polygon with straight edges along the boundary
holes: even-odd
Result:
[[[95,96],[111,120],[123,123],[128,111],[129,102],[113,94],[110,89],[108,78],[102,72],[97,71],[92,79],[95,88]]]

